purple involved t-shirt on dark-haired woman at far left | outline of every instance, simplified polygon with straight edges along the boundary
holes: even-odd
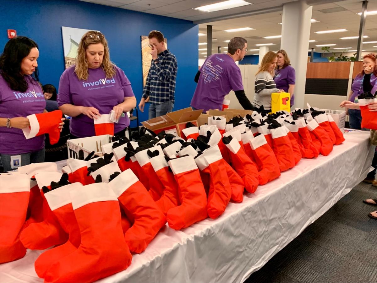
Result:
[[[43,113],[46,99],[39,84],[28,75],[26,92],[12,90],[0,75],[0,118],[26,117]],[[41,150],[44,147],[44,135],[26,139],[21,129],[0,127],[0,153],[19,155]]]

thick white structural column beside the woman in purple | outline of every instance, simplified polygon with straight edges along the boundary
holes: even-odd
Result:
[[[287,51],[291,65],[296,70],[294,105],[299,108],[304,106],[312,8],[306,1],[290,2],[283,6],[280,46]]]

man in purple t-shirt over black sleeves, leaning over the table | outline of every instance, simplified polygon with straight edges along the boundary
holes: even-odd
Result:
[[[235,61],[241,61],[247,52],[247,40],[233,37],[228,43],[227,54],[208,57],[195,76],[196,86],[191,106],[195,109],[222,110],[225,95],[231,90],[244,109],[253,110],[242,85],[241,70]]]

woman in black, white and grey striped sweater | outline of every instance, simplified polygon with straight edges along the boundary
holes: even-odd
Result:
[[[262,59],[258,72],[255,74],[255,95],[253,104],[256,108],[263,106],[265,110],[271,110],[271,93],[283,91],[276,88],[273,79],[277,58],[278,55],[275,52],[268,51]]]

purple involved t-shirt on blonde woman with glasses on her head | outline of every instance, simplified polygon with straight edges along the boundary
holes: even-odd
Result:
[[[88,72],[86,81],[78,79],[75,65],[63,72],[59,82],[58,106],[67,103],[95,107],[100,114],[109,114],[125,97],[135,96],[130,81],[120,68],[115,67],[115,75],[112,78],[106,78],[106,73],[101,67],[88,69]],[[120,118],[119,122],[114,124],[114,133],[120,132],[129,124],[130,119],[127,115]],[[83,114],[72,117],[69,128],[72,135],[80,138],[95,136],[93,119]]]

